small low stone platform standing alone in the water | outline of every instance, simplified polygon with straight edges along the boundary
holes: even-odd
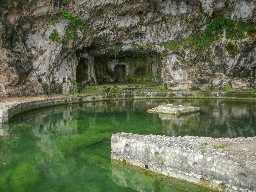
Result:
[[[184,107],[182,105],[173,106],[172,104],[167,105],[159,105],[158,107],[154,107],[149,109],[149,113],[165,113],[165,114],[175,114],[175,115],[183,115],[188,113],[199,112],[200,107]]]

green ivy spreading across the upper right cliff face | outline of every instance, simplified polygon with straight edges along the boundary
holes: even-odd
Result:
[[[226,39],[239,40],[246,38],[247,35],[252,35],[253,33],[255,33],[255,24],[252,22],[251,19],[243,22],[236,21],[235,19],[232,20],[230,17],[224,18],[218,16],[213,19],[213,21],[207,26],[203,33],[193,35],[185,39],[183,42],[167,41],[159,44],[148,43],[144,46],[136,45],[134,42],[132,42],[132,46],[135,48],[143,48],[144,50],[146,50],[147,48],[152,49],[152,46],[164,46],[166,49],[164,49],[161,53],[163,56],[168,53],[169,48],[171,48],[172,51],[177,52],[179,46],[184,46],[187,44],[189,44],[189,46],[195,46],[197,49],[200,50],[203,47],[211,45],[213,41],[219,40],[223,36],[224,30]],[[226,49],[230,53],[235,52],[235,48],[232,47],[232,43],[229,43],[226,46]]]

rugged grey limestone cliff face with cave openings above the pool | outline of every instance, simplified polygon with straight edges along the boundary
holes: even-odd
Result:
[[[65,38],[72,13],[84,26]],[[0,92],[9,96],[66,93],[82,85],[154,76],[171,89],[255,88],[255,34],[191,45],[217,15],[255,21],[249,0],[17,0],[0,2]],[[50,21],[59,23],[49,25]],[[236,26],[237,27],[237,26]],[[56,30],[65,42],[49,36]],[[183,42],[177,49],[165,42]],[[118,69],[120,67],[120,69]],[[123,67],[123,68],[122,68]],[[122,68],[122,69],[121,69]],[[124,73],[125,74],[122,74]],[[122,78],[121,78],[122,79]]]

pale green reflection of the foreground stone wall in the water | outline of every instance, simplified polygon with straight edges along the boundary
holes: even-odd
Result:
[[[121,187],[130,187],[140,192],[174,191],[203,192],[213,191],[199,185],[167,177],[111,159],[112,180]]]

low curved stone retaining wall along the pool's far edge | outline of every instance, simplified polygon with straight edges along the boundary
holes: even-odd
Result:
[[[256,93],[247,92],[193,92],[193,91],[178,91],[178,92],[156,92],[154,88],[136,88],[139,90],[136,93],[136,87],[130,87],[131,93],[77,93],[71,95],[51,95],[39,96],[33,98],[22,98],[12,101],[0,102],[0,123],[6,123],[13,116],[24,113],[29,110],[50,107],[54,105],[69,104],[70,102],[92,102],[105,101],[107,104],[117,102],[122,99],[161,99],[161,98],[225,98],[225,97],[246,97],[248,99],[256,99]],[[143,92],[145,91],[145,92]],[[237,98],[236,98],[237,99]]]

